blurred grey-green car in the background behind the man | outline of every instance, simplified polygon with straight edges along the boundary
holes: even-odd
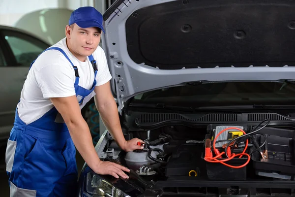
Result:
[[[29,66],[50,47],[20,29],[0,26],[0,145],[6,145]]]

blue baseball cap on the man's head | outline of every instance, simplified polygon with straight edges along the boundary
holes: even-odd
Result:
[[[69,19],[69,25],[76,23],[81,28],[98,27],[104,33],[102,14],[94,7],[86,6],[74,10]]]

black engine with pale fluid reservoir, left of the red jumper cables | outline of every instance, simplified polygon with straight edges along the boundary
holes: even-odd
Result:
[[[154,180],[178,175],[200,176],[206,130],[195,132],[194,128],[169,126],[148,133],[152,134],[147,134],[143,150],[125,154],[126,166]]]

